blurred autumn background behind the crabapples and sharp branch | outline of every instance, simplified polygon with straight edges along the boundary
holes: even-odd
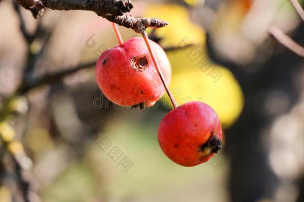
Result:
[[[118,44],[109,21],[50,9],[34,19],[0,0],[0,202],[304,202],[304,60],[267,33],[304,45],[290,0],[133,5],[169,23],[147,31],[170,60],[172,94],[215,109],[223,149],[176,165],[157,142],[166,96],[143,110],[105,98],[94,64]]]

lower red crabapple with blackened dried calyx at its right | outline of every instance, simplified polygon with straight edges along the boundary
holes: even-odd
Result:
[[[222,145],[220,120],[207,104],[188,102],[166,114],[158,128],[158,143],[173,162],[196,166],[209,161]]]

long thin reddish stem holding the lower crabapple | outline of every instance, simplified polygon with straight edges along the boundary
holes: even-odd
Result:
[[[159,77],[160,77],[160,79],[161,79],[161,82],[162,82],[162,84],[163,84],[165,90],[167,91],[167,94],[168,94],[168,96],[169,96],[169,98],[170,98],[170,100],[171,100],[171,103],[172,103],[173,107],[176,108],[176,107],[178,107],[178,105],[177,105],[176,101],[174,100],[174,98],[173,98],[173,96],[172,96],[172,94],[171,94],[171,92],[170,92],[170,90],[169,90],[169,88],[168,88],[168,85],[167,85],[167,83],[166,83],[166,81],[165,81],[165,79],[164,79],[164,77],[163,77],[163,75],[162,75],[162,73],[161,73],[161,71],[160,71],[160,69],[159,69],[158,63],[157,63],[157,61],[156,61],[156,59],[155,59],[155,55],[154,55],[154,53],[153,53],[153,51],[152,51],[152,48],[151,48],[151,45],[150,45],[150,41],[149,41],[148,34],[147,34],[146,31],[142,32],[141,34],[142,34],[142,36],[143,36],[143,38],[144,38],[144,40],[145,40],[145,42],[146,42],[146,45],[147,45],[148,50],[149,50],[149,52],[150,52],[150,55],[151,55],[151,57],[152,57],[154,66],[155,66],[155,68],[156,68],[156,71],[157,71],[157,73],[158,73],[158,75],[159,75]]]

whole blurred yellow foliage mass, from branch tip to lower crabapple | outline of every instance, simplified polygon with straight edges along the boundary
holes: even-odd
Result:
[[[197,0],[185,1],[193,5]],[[198,67],[200,61],[205,59],[203,62],[208,62],[203,28],[190,20],[186,8],[176,4],[152,5],[146,15],[157,16],[169,23],[168,26],[156,30],[156,36],[162,37],[162,47],[199,45],[167,53],[172,67],[170,89],[178,104],[193,100],[203,101],[216,111],[223,127],[233,124],[243,109],[243,93],[228,69],[211,63],[205,72]],[[216,82],[208,74],[212,69],[217,69],[222,74]],[[165,105],[169,104],[167,95],[162,101],[165,101]]]

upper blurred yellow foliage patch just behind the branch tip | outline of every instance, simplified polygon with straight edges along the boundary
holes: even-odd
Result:
[[[176,4],[152,4],[146,15],[165,20],[169,24],[156,30],[162,46],[176,46],[186,43],[204,44],[205,31],[199,25],[191,22],[186,8]],[[151,29],[149,29],[151,31]],[[183,40],[185,39],[186,40]]]

